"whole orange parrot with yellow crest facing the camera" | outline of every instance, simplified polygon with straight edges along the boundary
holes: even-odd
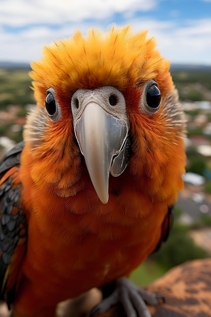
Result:
[[[52,317],[96,287],[106,311],[150,316],[131,272],[167,239],[183,189],[185,117],[156,38],[130,25],[44,46],[36,105],[0,165],[1,299]]]

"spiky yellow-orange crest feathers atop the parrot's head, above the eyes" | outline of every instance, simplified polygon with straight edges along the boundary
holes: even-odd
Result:
[[[129,25],[112,26],[105,33],[91,28],[86,37],[77,30],[72,37],[45,46],[43,55],[30,72],[38,106],[44,105],[50,87],[71,95],[78,88],[101,86],[122,91],[152,78],[162,78],[164,93],[173,86],[169,63],[160,56],[155,39],[147,38],[147,31],[134,35]]]

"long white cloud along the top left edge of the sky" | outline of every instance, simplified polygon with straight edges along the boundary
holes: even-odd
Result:
[[[115,13],[148,11],[157,0],[1,0],[0,21],[12,27],[103,19]]]

